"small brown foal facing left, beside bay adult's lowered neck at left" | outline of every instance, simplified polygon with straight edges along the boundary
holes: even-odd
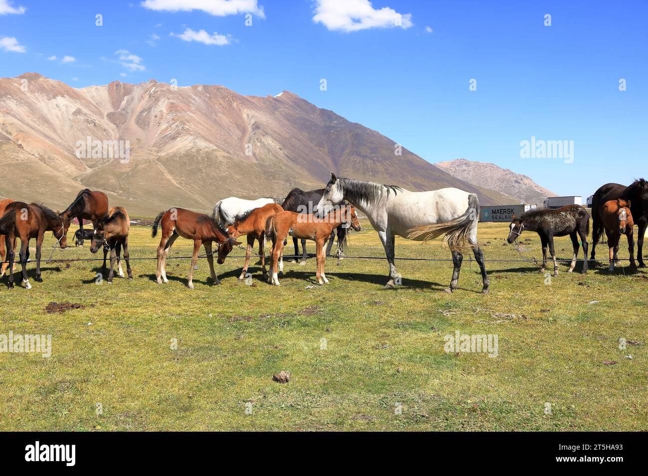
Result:
[[[90,253],[97,253],[98,249],[104,249],[104,266],[101,269],[102,275],[106,274],[106,255],[110,251],[110,273],[108,284],[113,284],[115,261],[117,261],[117,272],[119,277],[124,277],[121,267],[121,249],[124,249],[124,260],[126,260],[126,272],[128,279],[133,278],[130,269],[130,253],[128,253],[128,232],[130,231],[130,218],[124,207],[112,207],[102,220],[98,222],[93,232]]]

